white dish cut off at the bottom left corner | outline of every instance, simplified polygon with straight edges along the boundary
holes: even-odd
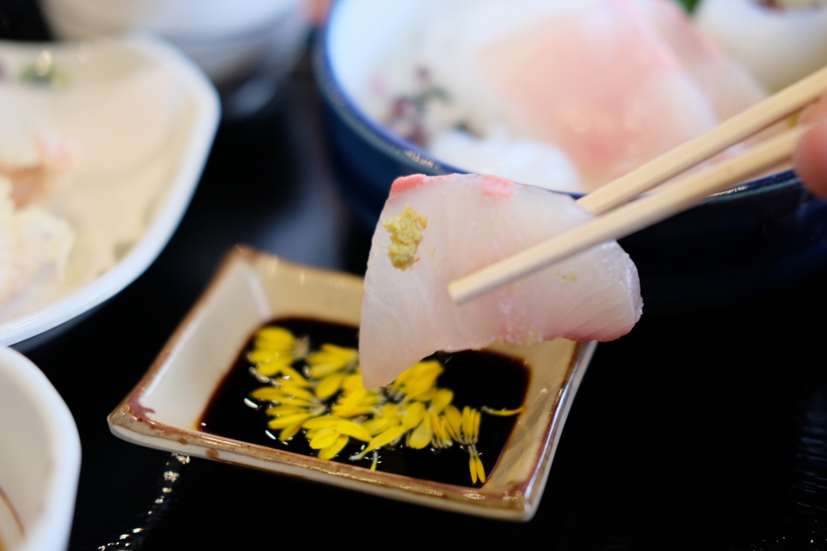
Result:
[[[80,439],[49,379],[0,347],[0,548],[61,551],[69,544]]]

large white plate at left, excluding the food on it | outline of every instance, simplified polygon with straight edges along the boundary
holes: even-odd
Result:
[[[31,78],[44,67],[56,78]],[[74,160],[49,208],[77,235],[64,278],[42,275],[0,306],[0,344],[72,320],[146,270],[189,205],[219,114],[202,71],[148,33],[0,42],[0,159],[25,157],[36,135],[65,142]]]

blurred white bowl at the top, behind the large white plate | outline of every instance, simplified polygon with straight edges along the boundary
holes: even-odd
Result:
[[[203,69],[222,94],[223,112],[261,107],[299,61],[310,21],[301,0],[44,0],[61,40],[151,31]],[[231,93],[232,92],[232,93]]]

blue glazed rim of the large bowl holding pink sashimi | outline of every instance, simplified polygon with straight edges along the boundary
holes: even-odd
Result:
[[[432,174],[467,173],[468,171],[440,161],[433,157],[427,150],[389,131],[384,125],[372,120],[356,104],[351,94],[345,90],[336,78],[336,71],[333,67],[330,55],[330,36],[332,27],[336,25],[337,14],[342,9],[346,0],[334,2],[327,19],[319,27],[313,41],[312,65],[318,88],[322,92],[327,104],[332,107],[337,116],[347,123],[352,131],[356,132],[363,140],[388,154],[411,169],[429,169]],[[530,185],[530,184],[524,184]],[[390,182],[388,183],[390,188]],[[793,169],[786,169],[778,173],[767,174],[757,178],[750,178],[739,186],[724,192],[710,195],[707,200],[697,208],[710,203],[730,202],[745,195],[775,192],[782,188],[802,187],[801,180]],[[575,199],[586,195],[585,192],[567,192],[564,190],[549,190],[557,193],[565,193]]]

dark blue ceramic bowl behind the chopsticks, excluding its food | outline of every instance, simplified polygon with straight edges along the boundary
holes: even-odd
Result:
[[[401,2],[401,0],[399,0]],[[313,45],[327,141],[342,195],[372,232],[399,176],[466,172],[434,159],[356,105],[339,80],[336,48],[366,14],[338,0]],[[390,3],[390,2],[387,2]],[[390,8],[386,8],[389,9]],[[375,25],[390,12],[375,14]],[[348,48],[354,47],[352,44]],[[358,47],[358,45],[356,46]],[[574,197],[579,197],[572,193]],[[753,180],[620,240],[638,266],[646,311],[686,311],[756,297],[827,266],[827,203],[792,171]]]

